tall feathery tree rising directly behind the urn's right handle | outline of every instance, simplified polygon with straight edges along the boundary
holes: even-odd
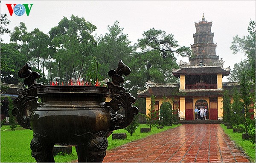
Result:
[[[108,77],[108,71],[116,69],[119,60],[128,63],[132,52],[130,44],[128,35],[123,33],[118,21],[113,26],[108,26],[108,33],[98,38],[96,51],[96,57],[102,65],[99,70],[102,76]]]

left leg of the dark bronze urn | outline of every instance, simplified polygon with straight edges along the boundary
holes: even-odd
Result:
[[[52,154],[54,143],[46,139],[46,136],[34,134],[30,143],[31,156],[35,158],[38,163],[55,163]]]

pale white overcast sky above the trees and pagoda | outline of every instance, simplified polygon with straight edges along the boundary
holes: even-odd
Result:
[[[1,0],[1,14],[8,14],[13,30],[20,22],[25,23],[27,31],[40,29],[48,34],[50,29],[58,22],[71,14],[84,17],[97,27],[93,35],[105,34],[108,26],[117,20],[123,28],[123,33],[128,34],[132,45],[142,38],[144,31],[151,28],[173,34],[180,46],[193,44],[195,22],[202,19],[212,21],[214,43],[217,43],[216,54],[225,61],[224,68],[233,68],[235,63],[244,59],[243,54],[233,54],[230,50],[233,37],[243,37],[248,34],[247,27],[250,19],[256,19],[255,0]],[[6,4],[32,3],[29,16],[23,14],[10,16]],[[30,7],[30,6],[29,6]],[[9,43],[9,35],[1,35],[3,43]],[[188,58],[178,57],[189,62]],[[226,77],[223,78],[224,81]]]

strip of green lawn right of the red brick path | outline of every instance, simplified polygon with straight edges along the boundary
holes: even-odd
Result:
[[[224,126],[224,124],[221,124],[221,127],[230,139],[250,157],[250,162],[255,163],[255,144],[251,143],[250,140],[243,140],[242,133],[233,132],[233,129],[227,129],[227,126]]]

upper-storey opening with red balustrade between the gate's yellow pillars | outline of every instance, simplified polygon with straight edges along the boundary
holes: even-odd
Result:
[[[217,75],[185,75],[185,89],[217,89]]]

